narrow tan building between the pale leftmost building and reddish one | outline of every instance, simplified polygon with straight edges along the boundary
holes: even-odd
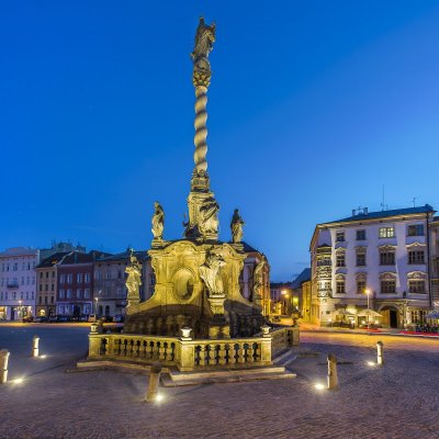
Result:
[[[68,252],[54,254],[35,267],[36,275],[36,313],[38,317],[56,315],[57,264]]]

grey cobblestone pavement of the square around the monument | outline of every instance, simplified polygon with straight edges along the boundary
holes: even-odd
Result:
[[[142,404],[147,378],[110,371],[65,373],[87,350],[87,328],[37,328],[41,353],[29,358],[35,327],[0,327],[11,351],[0,385],[1,438],[439,438],[439,340],[387,336],[385,365],[378,337],[302,335],[322,352],[297,359],[295,380],[162,389],[159,404]],[[340,389],[326,381],[337,354]]]

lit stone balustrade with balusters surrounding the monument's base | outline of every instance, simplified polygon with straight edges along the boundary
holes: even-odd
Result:
[[[299,328],[277,328],[261,337],[192,340],[125,334],[89,335],[90,360],[114,360],[175,365],[181,371],[243,369],[269,365],[272,358],[299,345]]]

